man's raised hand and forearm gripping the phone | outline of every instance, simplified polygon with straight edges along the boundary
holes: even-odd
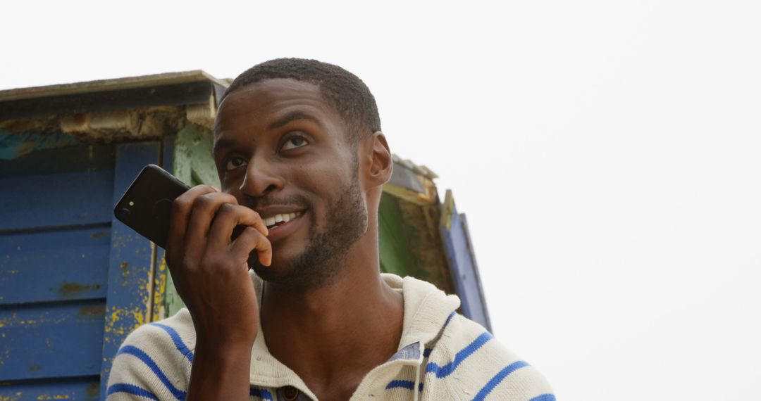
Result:
[[[248,227],[231,242],[238,224]],[[267,234],[258,213],[209,186],[191,188],[172,204],[167,265],[197,337],[188,399],[249,397],[259,305],[247,260],[256,250],[269,266]]]

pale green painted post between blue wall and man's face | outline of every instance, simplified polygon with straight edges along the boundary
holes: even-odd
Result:
[[[186,125],[177,133],[174,141],[174,150],[171,152],[172,174],[190,186],[205,184],[220,188],[217,167],[212,156],[213,140],[212,131],[208,128],[194,124]],[[159,266],[165,267],[166,262],[162,260]],[[169,274],[165,299],[167,316],[177,313],[184,306]]]

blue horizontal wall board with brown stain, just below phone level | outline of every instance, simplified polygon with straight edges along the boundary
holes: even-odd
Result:
[[[0,235],[0,305],[106,297],[110,226]]]

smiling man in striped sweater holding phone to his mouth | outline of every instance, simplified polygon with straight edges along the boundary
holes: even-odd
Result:
[[[256,65],[222,97],[214,139],[221,191],[177,198],[167,242],[187,308],[126,339],[109,399],[555,399],[456,296],[379,273],[393,163],[358,77]]]

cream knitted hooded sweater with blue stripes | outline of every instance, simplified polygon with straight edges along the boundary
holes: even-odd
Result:
[[[383,276],[403,293],[402,338],[398,352],[362,379],[352,400],[555,400],[535,368],[455,312],[457,296],[411,277]],[[259,279],[253,280],[261,293]],[[108,401],[184,399],[195,343],[186,309],[139,327],[116,354]],[[262,330],[251,352],[250,399],[317,399],[300,377],[269,354]]]

